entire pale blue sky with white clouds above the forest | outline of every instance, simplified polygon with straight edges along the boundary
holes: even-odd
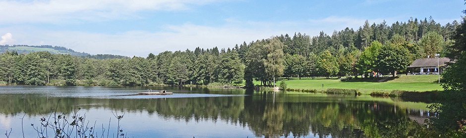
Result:
[[[409,17],[460,20],[463,0],[0,0],[0,44],[58,45],[146,56],[233,47],[273,35],[391,25]]]

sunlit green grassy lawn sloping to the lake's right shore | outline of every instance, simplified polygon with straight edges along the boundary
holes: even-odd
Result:
[[[362,94],[369,94],[373,91],[404,90],[404,91],[435,91],[443,90],[440,84],[436,83],[438,75],[401,75],[398,78],[385,82],[374,82],[367,79],[353,79],[342,82],[337,78],[290,78],[286,80],[288,88],[291,89],[316,89],[326,90],[329,88],[336,89],[356,89]],[[255,82],[260,84],[260,82]],[[280,81],[277,82],[277,85]],[[323,84],[323,87],[322,87]]]

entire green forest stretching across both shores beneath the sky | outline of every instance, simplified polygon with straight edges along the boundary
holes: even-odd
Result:
[[[227,49],[197,47],[132,58],[6,51],[0,54],[0,84],[250,87],[254,80],[271,86],[279,77],[370,77],[370,72],[395,76],[417,58],[455,53],[460,24],[441,25],[432,17],[392,25],[366,21],[356,30],[331,35],[276,35]]]

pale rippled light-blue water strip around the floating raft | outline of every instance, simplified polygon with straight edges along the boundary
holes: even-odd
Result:
[[[143,87],[57,87],[57,86],[0,86],[0,94],[37,94],[48,97],[91,97],[91,98],[190,98],[190,97],[224,97],[243,96],[243,89],[210,90],[202,88],[176,88],[176,87],[150,87],[153,92],[167,90],[173,95],[146,95],[137,96],[145,92]]]

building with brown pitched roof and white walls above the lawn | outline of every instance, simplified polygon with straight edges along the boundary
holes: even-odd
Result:
[[[443,72],[443,66],[450,62],[449,58],[423,58],[416,59],[408,67],[408,71],[413,74],[436,74],[438,72],[437,66],[440,66],[440,73]]]

